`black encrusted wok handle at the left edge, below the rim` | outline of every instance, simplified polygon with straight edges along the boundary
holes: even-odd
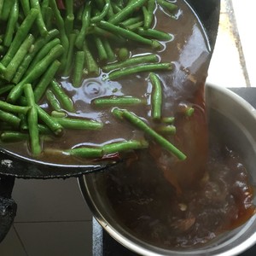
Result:
[[[0,176],[0,242],[14,222],[17,205],[11,198],[15,177]]]

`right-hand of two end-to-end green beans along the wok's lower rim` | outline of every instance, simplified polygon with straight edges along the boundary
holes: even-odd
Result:
[[[102,154],[108,155],[108,154],[115,154],[115,153],[127,152],[130,150],[144,149],[144,148],[148,148],[148,142],[145,140],[141,140],[141,141],[131,140],[131,141],[125,141],[125,142],[119,142],[119,143],[109,143],[102,147]]]

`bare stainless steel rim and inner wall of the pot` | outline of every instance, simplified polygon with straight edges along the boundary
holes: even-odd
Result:
[[[256,111],[240,96],[228,89],[207,84],[207,111],[209,126],[214,127],[216,134],[221,135],[225,143],[236,148],[247,163],[252,183],[256,183]],[[131,236],[125,227],[117,224],[108,199],[104,193],[104,183],[100,175],[90,174],[79,178],[81,191],[97,221],[110,236],[131,251],[148,256],[160,255],[238,255],[256,242],[256,216],[246,224],[218,236],[214,241],[193,249],[165,250],[154,247],[135,236]],[[255,198],[254,198],[255,200]]]

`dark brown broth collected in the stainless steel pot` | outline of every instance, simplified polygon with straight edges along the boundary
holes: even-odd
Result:
[[[131,236],[166,249],[201,247],[255,213],[240,157],[217,141],[209,155],[204,177],[180,194],[150,154],[91,180],[104,211]]]

